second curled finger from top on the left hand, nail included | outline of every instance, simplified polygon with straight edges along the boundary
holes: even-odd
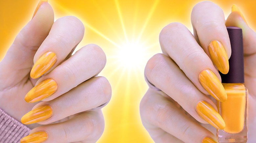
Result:
[[[87,45],[40,78],[37,85],[25,96],[25,101],[33,103],[53,100],[97,75],[105,64],[106,56],[102,49],[95,44]]]

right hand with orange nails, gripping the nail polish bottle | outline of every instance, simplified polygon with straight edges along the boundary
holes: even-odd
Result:
[[[180,23],[171,23],[160,33],[163,54],[154,55],[145,68],[146,78],[155,87],[149,84],[140,103],[144,127],[155,142],[217,142],[215,128],[223,129],[225,123],[214,101],[227,98],[218,70],[227,73],[229,69],[231,47],[226,26],[237,26],[244,35],[248,142],[255,142],[255,32],[235,6],[225,21],[222,9],[212,2],[198,3],[191,22],[194,36]],[[218,50],[216,55],[212,48]]]

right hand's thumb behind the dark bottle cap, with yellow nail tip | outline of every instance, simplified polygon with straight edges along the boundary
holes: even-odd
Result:
[[[256,73],[256,33],[247,25],[242,12],[236,5],[232,6],[232,12],[228,16],[226,26],[242,28],[244,43],[245,63],[245,86],[250,90],[251,95],[256,95],[255,74]]]

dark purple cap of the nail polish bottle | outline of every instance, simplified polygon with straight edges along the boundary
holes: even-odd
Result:
[[[244,83],[244,46],[243,33],[239,27],[227,27],[228,36],[231,44],[231,56],[229,58],[229,71],[222,74],[222,83]]]

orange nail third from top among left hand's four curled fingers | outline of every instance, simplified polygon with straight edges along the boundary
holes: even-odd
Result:
[[[35,108],[34,110],[25,114],[21,118],[21,122],[23,124],[37,123],[37,122],[49,119],[52,115],[53,115],[53,110],[52,110],[51,106],[44,105],[44,106]]]

